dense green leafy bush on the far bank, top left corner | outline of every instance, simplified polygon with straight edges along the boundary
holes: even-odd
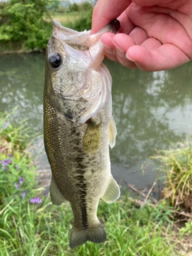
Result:
[[[52,30],[49,5],[50,0],[3,2],[0,5],[1,46],[8,48],[6,50],[45,49]]]

